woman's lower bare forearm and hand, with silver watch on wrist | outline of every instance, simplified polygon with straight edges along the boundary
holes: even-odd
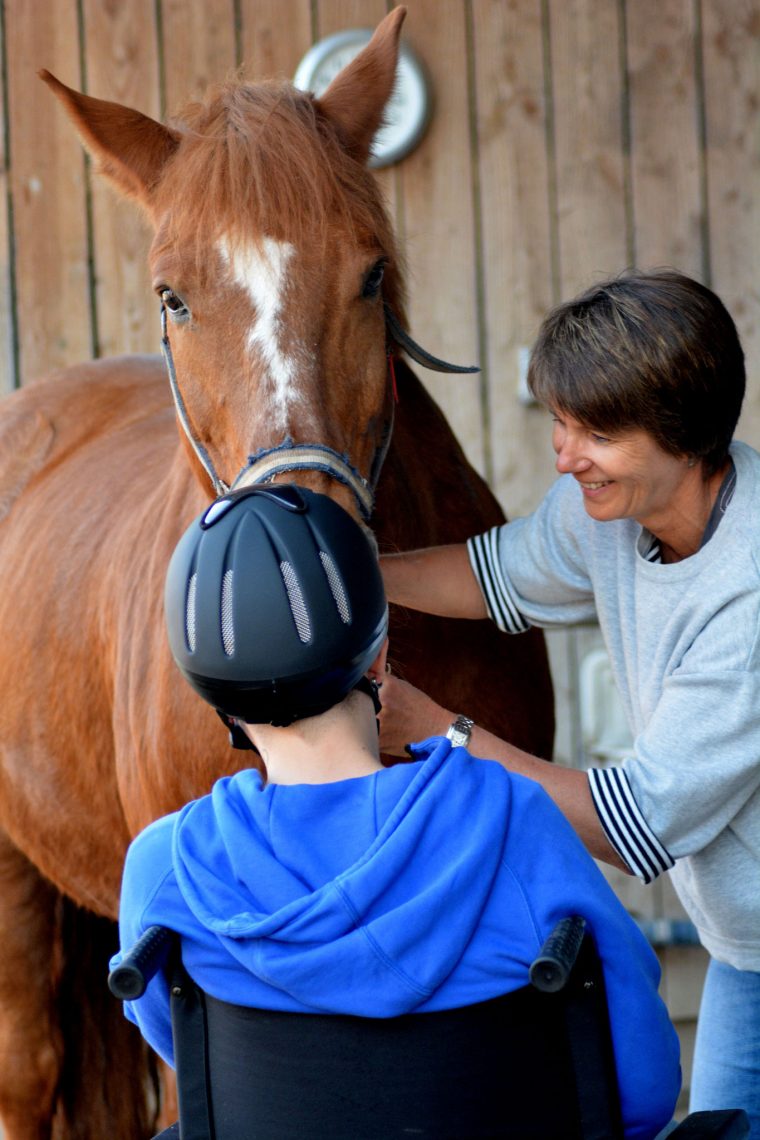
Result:
[[[406,744],[427,736],[443,736],[455,719],[455,712],[438,705],[426,693],[406,681],[386,675],[381,686],[383,710],[379,716],[381,750],[390,756],[404,756]],[[466,709],[457,709],[465,712]],[[573,825],[595,858],[620,868],[630,874],[604,833],[589,790],[588,776],[578,768],[549,764],[530,752],[500,740],[479,725],[473,728],[468,751],[483,759],[497,760],[508,772],[528,776],[541,784]]]

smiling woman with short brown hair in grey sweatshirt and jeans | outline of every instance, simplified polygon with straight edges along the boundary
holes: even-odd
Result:
[[[559,306],[529,368],[561,478],[534,514],[383,560],[392,602],[509,633],[597,620],[634,732],[616,767],[562,768],[394,676],[382,744],[444,733],[537,780],[597,857],[671,870],[710,966],[692,1109],[760,1137],[760,456],[733,442],[744,357],[720,300],[631,272]],[[498,684],[498,678],[495,678]]]

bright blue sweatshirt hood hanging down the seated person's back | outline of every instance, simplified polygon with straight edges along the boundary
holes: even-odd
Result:
[[[476,775],[444,739],[417,755],[330,784],[265,785],[254,771],[220,780],[174,825],[173,870],[195,920],[307,1008],[369,1002],[389,1017],[424,1003],[487,906],[510,784],[497,764]]]

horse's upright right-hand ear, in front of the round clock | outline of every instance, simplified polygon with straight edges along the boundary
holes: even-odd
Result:
[[[394,8],[377,25],[367,47],[335,76],[318,106],[341,131],[346,149],[366,162],[373,138],[391,98],[399,57],[399,38],[407,9]]]

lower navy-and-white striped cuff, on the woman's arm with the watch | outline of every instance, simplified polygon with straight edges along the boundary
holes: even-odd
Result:
[[[588,780],[604,833],[634,874],[652,882],[669,871],[675,860],[641,815],[623,769],[590,768]]]

